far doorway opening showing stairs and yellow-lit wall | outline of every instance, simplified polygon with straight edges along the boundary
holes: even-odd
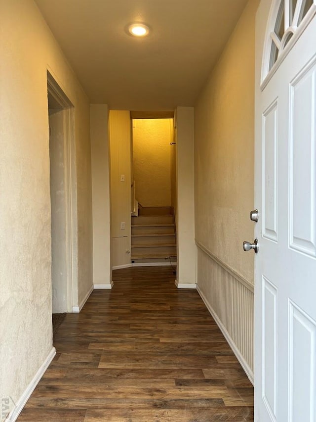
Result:
[[[131,117],[134,117],[131,113]],[[170,264],[176,244],[176,142],[173,114],[132,118],[131,261]]]

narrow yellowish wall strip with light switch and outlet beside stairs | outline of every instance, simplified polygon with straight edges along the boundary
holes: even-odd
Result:
[[[129,111],[109,116],[111,167],[111,256],[113,268],[130,264],[131,244],[131,120]],[[120,177],[124,175],[125,181]],[[121,222],[125,229],[121,229]]]

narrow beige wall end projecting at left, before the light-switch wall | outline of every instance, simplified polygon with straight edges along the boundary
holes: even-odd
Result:
[[[93,284],[110,285],[110,157],[108,106],[90,105],[92,209],[93,209]]]

